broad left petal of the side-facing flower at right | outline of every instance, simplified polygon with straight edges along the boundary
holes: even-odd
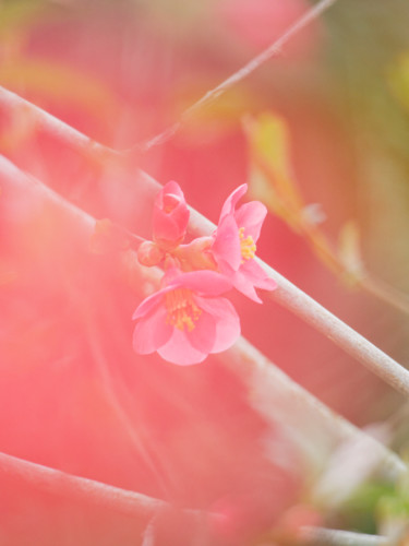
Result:
[[[215,260],[224,260],[233,270],[238,270],[241,262],[241,247],[238,225],[232,215],[225,216],[216,229],[215,241],[212,246]]]

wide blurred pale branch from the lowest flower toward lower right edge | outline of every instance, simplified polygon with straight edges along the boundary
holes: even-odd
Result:
[[[407,466],[380,441],[329,410],[256,347],[241,337],[218,358],[246,385],[251,405],[267,422],[279,423],[310,463],[309,475],[321,474],[334,450],[347,442],[371,451],[372,471],[395,482]]]

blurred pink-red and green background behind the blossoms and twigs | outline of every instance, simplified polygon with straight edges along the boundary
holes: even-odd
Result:
[[[130,149],[179,120],[311,5],[3,0],[0,84],[95,141]],[[249,182],[270,209],[258,256],[405,366],[408,316],[394,301],[409,292],[408,26],[405,0],[336,2],[167,142],[136,150],[133,170],[80,156],[38,131],[29,110],[0,110],[0,149],[95,217],[147,237],[151,210],[137,168],[161,183],[177,180],[214,222],[229,192]],[[261,169],[264,153],[272,176]],[[278,198],[277,187],[285,188]],[[132,352],[130,318],[142,296],[109,256],[89,251],[89,234],[23,192],[12,203],[7,193],[0,200],[0,450],[182,506],[225,510],[232,523],[217,539],[253,544],[308,496],[299,454],[286,444],[286,470],[266,456],[266,424],[216,359],[184,369]],[[316,251],[322,238],[329,258]],[[360,262],[375,280],[372,294],[339,266]],[[243,334],[352,423],[386,419],[401,405],[287,310],[240,297],[234,305]],[[137,449],[110,405],[112,389]],[[79,514],[63,500],[56,508],[12,480],[4,490],[2,544],[141,542],[135,522]],[[373,515],[363,520],[375,531]],[[171,536],[164,544],[190,544]]]

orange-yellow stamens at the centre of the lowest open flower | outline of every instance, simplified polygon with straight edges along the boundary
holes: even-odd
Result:
[[[168,311],[166,323],[183,332],[184,327],[191,332],[199,317],[202,314],[193,301],[192,290],[188,288],[176,288],[165,295],[165,306]]]

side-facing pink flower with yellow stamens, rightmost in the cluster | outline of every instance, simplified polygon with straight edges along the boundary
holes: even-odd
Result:
[[[254,260],[256,241],[267,214],[260,201],[251,201],[236,209],[248,186],[239,186],[225,201],[219,224],[213,237],[212,253],[221,274],[230,278],[234,288],[254,301],[261,302],[255,288],[273,290],[277,284]]]

